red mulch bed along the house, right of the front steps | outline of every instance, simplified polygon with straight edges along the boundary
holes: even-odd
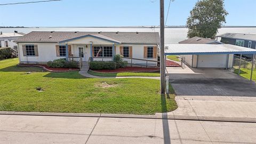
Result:
[[[119,72],[150,72],[150,71],[158,71],[159,68],[142,68],[142,67],[125,67],[118,69],[102,69],[102,70],[93,70],[100,73],[119,73]]]

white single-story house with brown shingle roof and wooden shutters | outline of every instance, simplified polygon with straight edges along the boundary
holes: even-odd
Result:
[[[157,66],[159,39],[158,33],[148,32],[32,31],[15,42],[20,63],[45,64],[77,57],[111,61],[121,54],[128,63]]]

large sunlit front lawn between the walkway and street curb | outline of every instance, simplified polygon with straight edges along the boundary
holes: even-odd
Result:
[[[77,71],[42,72],[17,63],[17,58],[0,61],[2,111],[155,114],[177,108],[173,93],[161,99],[156,79],[85,78]]]

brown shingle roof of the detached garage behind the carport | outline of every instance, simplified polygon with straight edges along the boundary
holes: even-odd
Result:
[[[186,39],[185,41],[181,41],[179,42],[179,44],[223,44],[223,43],[219,41],[215,41],[213,39],[195,36],[195,37]]]

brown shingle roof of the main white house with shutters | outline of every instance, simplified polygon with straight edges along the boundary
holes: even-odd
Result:
[[[51,36],[51,38],[50,38]],[[81,31],[32,31],[15,42],[59,43],[86,36],[124,44],[159,44],[158,33],[149,32],[81,32]]]

